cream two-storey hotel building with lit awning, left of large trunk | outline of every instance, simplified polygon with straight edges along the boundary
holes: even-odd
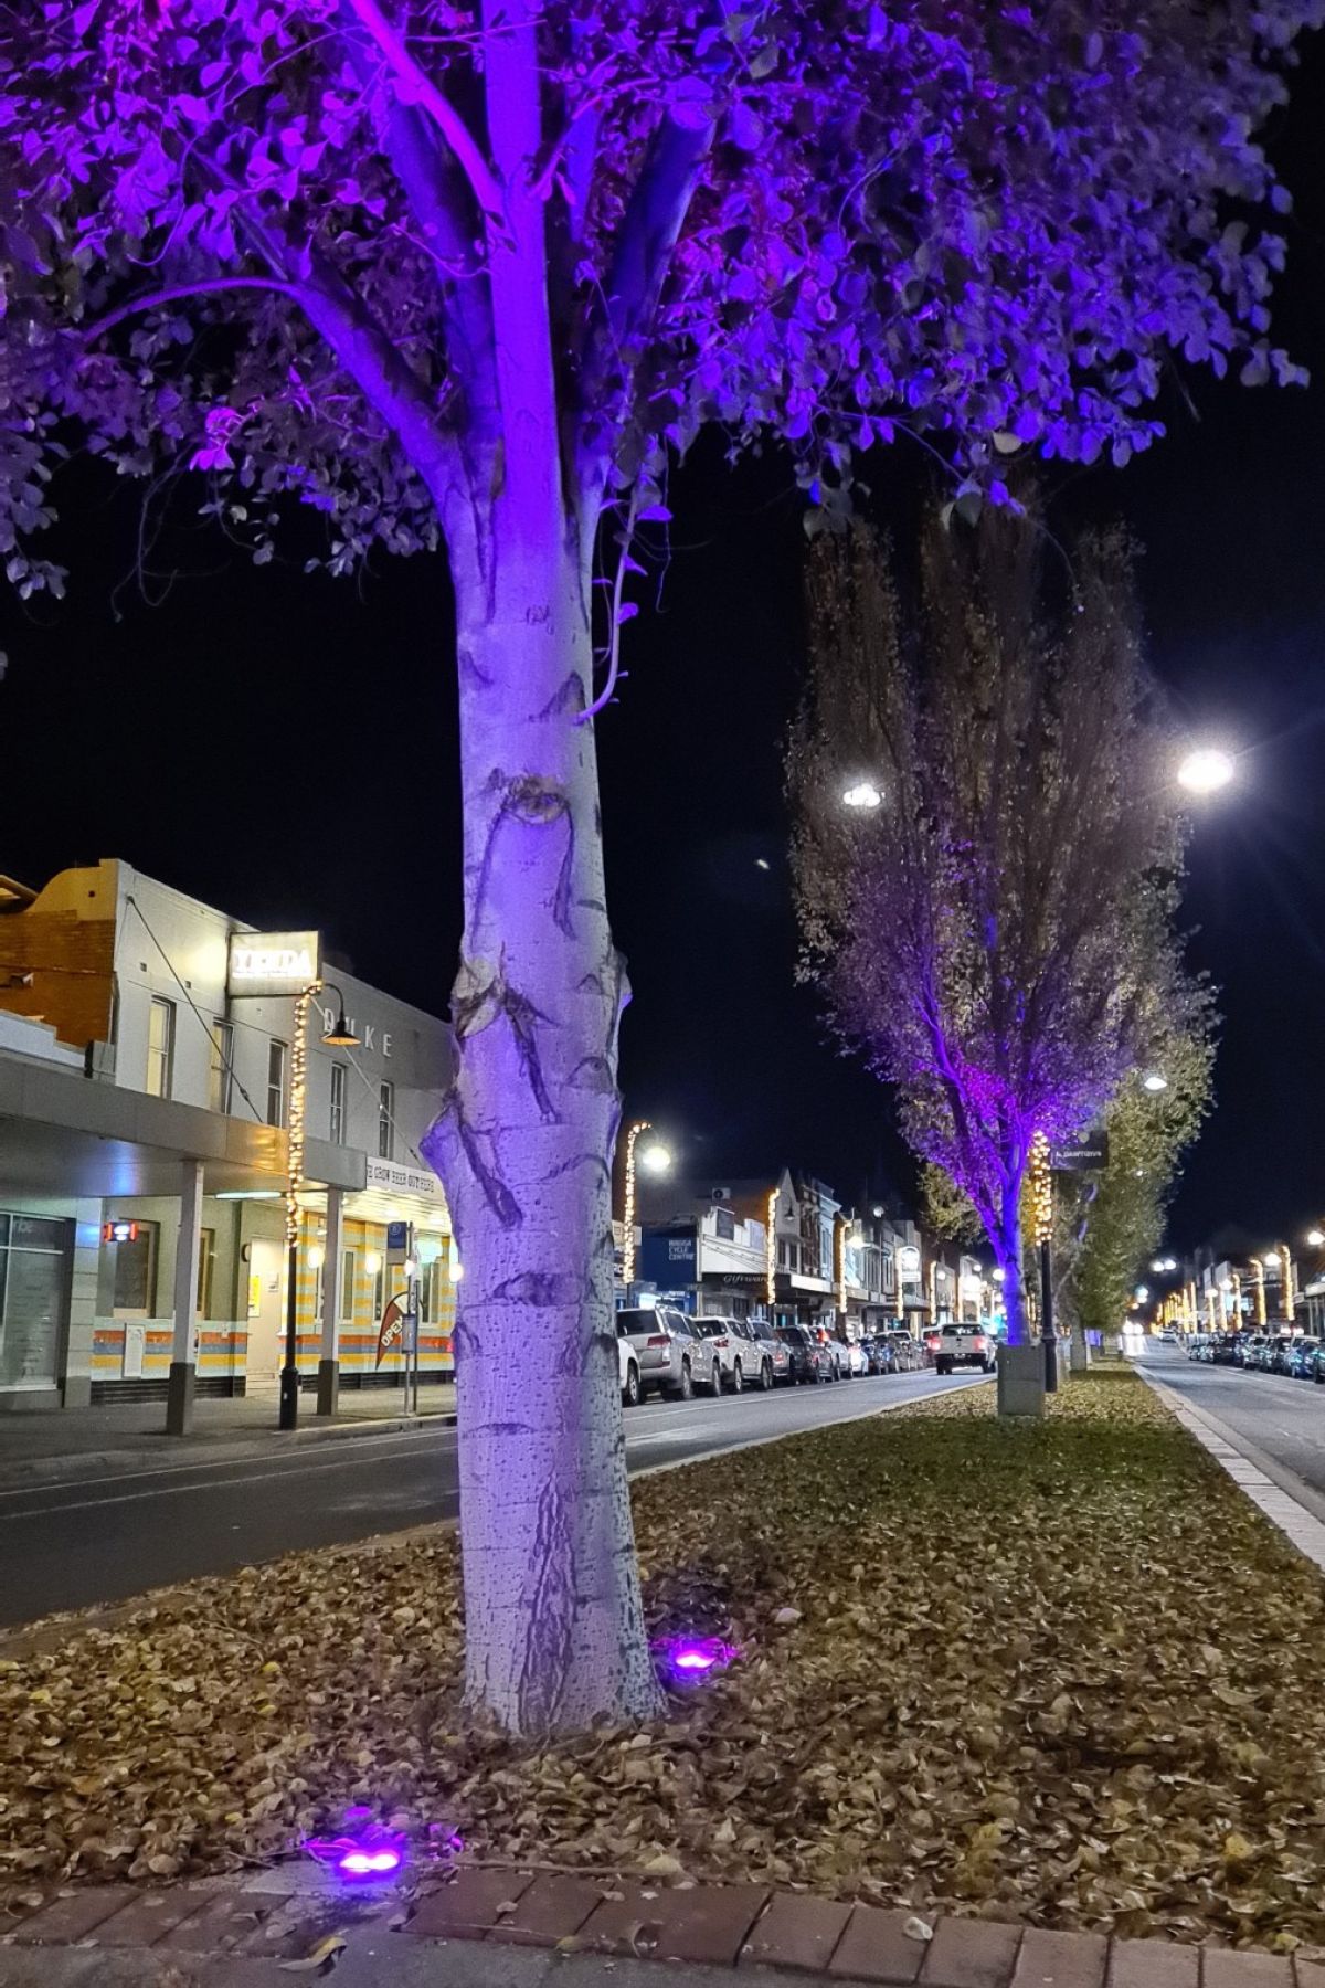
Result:
[[[399,1384],[403,1314],[419,1378],[447,1376],[459,1270],[419,1147],[449,1070],[445,1022],[322,964],[318,934],[254,934],[119,861],[0,881],[0,1406],[165,1394],[179,1366],[207,1394],[274,1382],[292,1117],[302,1374],[330,1406]]]

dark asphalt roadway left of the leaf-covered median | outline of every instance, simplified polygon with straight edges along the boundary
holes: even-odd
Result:
[[[626,1409],[630,1471],[687,1463],[894,1402],[969,1388],[934,1372]],[[171,1463],[0,1491],[0,1624],[125,1600],[298,1547],[453,1519],[455,1429],[348,1435],[294,1455]]]

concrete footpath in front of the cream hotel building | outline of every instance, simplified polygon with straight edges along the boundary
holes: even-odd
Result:
[[[72,1408],[34,1415],[0,1415],[0,1485],[60,1483],[113,1469],[163,1463],[230,1461],[284,1453],[346,1435],[383,1435],[419,1423],[455,1421],[455,1386],[423,1388],[419,1413],[405,1408],[399,1388],[342,1394],[336,1415],[318,1415],[316,1398],[300,1400],[298,1429],[276,1427],[276,1390],[199,1402],[189,1435],[165,1433],[165,1402],[113,1408]]]

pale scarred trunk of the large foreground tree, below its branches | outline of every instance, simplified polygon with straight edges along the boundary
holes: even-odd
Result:
[[[658,1710],[612,1308],[622,962],[604,903],[588,575],[493,541],[457,575],[465,940],[451,1199],[467,1694],[511,1732]]]

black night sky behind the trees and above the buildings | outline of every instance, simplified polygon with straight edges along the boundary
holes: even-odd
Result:
[[[1186,376],[1170,437],[1126,471],[1061,475],[1051,521],[1122,515],[1146,545],[1152,660],[1194,734],[1246,757],[1202,817],[1192,960],[1222,988],[1218,1111],[1172,1242],[1325,1215],[1325,48],[1309,46],[1271,149],[1291,185],[1275,336],[1307,390]],[[924,475],[872,469],[880,515]],[[72,495],[72,493],[70,493]],[[91,495],[91,493],[87,493]],[[793,984],[781,738],[803,646],[803,531],[783,467],[695,451],[671,491],[658,612],[600,722],[608,879],[636,1000],[632,1115],[713,1175],[791,1161],[854,1199],[906,1185],[888,1095],[822,1038]],[[0,594],[0,871],[30,883],[119,855],[258,924],[316,922],[356,970],[443,1010],[459,934],[451,606],[439,561],[360,584],[250,569],[177,529],[149,604],[135,505],[70,511],[62,606]],[[769,869],[759,867],[759,859]]]

